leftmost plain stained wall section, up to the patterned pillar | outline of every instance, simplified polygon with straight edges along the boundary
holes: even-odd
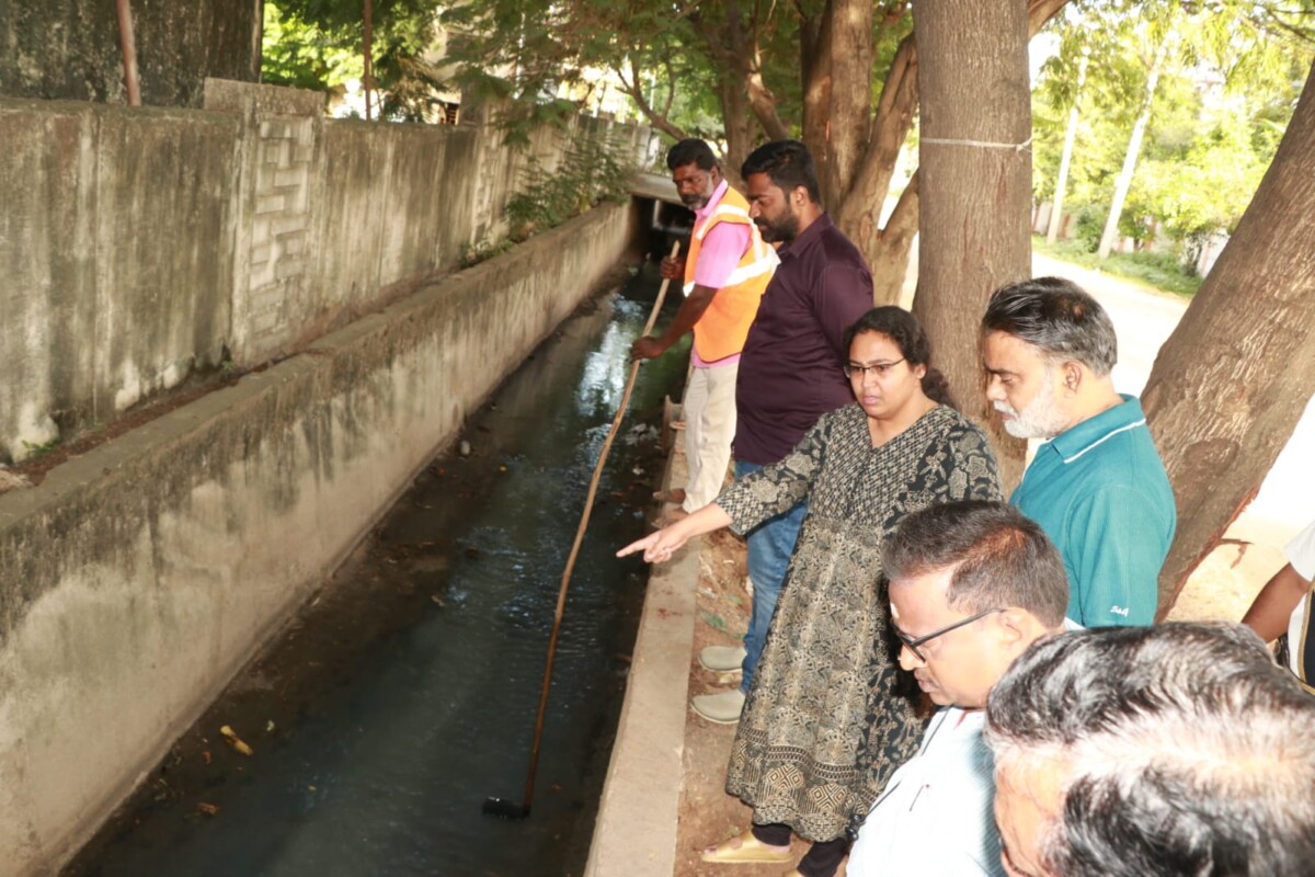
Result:
[[[237,120],[0,100],[0,460],[217,364]]]

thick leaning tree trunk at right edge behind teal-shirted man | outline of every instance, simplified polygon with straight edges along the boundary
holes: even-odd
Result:
[[[1265,179],[1143,394],[1178,533],[1159,618],[1260,489],[1315,393],[1315,70]]]

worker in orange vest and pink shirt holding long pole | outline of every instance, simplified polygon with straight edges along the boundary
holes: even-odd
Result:
[[[748,202],[722,178],[717,156],[701,139],[684,139],[667,153],[680,200],[694,210],[689,251],[663,259],[661,275],[684,281],[685,300],[667,330],[631,346],[635,359],[660,356],[693,330],[694,367],[685,388],[685,486],[667,497],[680,517],[713,501],[726,480],[735,438],[735,376],[740,350],[763,297],[776,252],[757,233]],[[742,655],[735,651],[735,665]]]

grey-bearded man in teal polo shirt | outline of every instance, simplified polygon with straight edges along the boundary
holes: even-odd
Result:
[[[1064,556],[1068,617],[1152,623],[1177,511],[1141,404],[1114,389],[1110,317],[1074,283],[1024,280],[992,296],[981,348],[1005,430],[1047,439],[1010,502]]]

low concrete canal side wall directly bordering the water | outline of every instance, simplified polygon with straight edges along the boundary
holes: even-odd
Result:
[[[0,848],[49,874],[622,259],[609,205],[0,496]]]

